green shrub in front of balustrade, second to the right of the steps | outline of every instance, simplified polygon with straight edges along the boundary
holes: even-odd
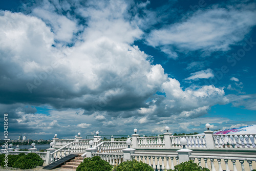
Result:
[[[115,167],[115,171],[154,171],[154,169],[143,163],[142,161],[138,162],[137,160],[125,161],[122,162],[119,166]]]

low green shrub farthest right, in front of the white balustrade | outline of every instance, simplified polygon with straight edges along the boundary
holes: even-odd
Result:
[[[208,168],[202,168],[197,163],[194,163],[192,160],[183,162],[174,166],[174,170],[169,169],[169,171],[210,171]]]

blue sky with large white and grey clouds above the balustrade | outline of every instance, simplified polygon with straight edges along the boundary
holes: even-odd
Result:
[[[8,136],[255,124],[255,18],[247,0],[1,1]]]

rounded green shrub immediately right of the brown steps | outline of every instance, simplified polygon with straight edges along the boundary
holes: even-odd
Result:
[[[102,160],[99,156],[92,158],[85,158],[83,162],[76,168],[77,171],[111,171],[112,165],[105,160]]]

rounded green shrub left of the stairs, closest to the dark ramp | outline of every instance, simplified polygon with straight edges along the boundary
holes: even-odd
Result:
[[[19,158],[16,160],[13,167],[29,169],[41,166],[42,164],[44,164],[44,161],[35,153],[29,153],[27,155],[19,154]]]

